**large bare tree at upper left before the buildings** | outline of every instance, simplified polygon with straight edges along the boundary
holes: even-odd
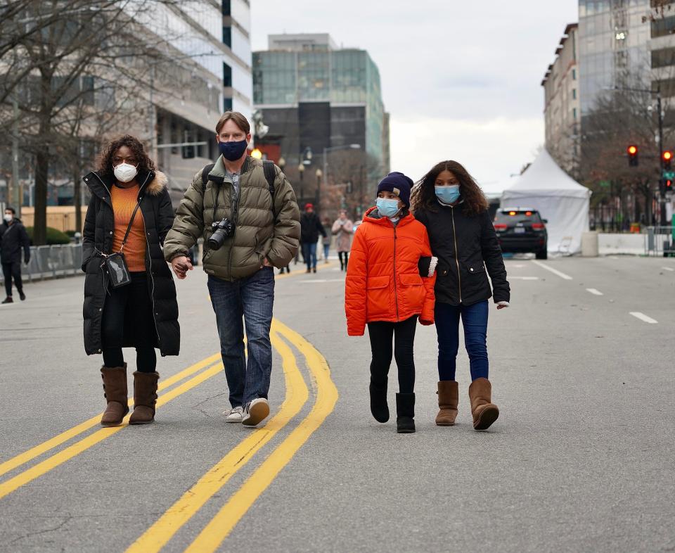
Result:
[[[2,8],[0,130],[18,134],[22,151],[34,156],[34,243],[46,239],[54,160],[79,172],[83,137],[134,128],[148,65],[172,57],[174,37],[160,39],[146,22],[176,1],[20,0]]]

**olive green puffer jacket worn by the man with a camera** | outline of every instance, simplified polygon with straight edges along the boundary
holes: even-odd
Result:
[[[209,173],[204,193],[202,172],[195,174],[164,241],[165,259],[171,261],[179,255],[187,255],[188,249],[203,236],[204,270],[219,279],[233,281],[250,277],[265,258],[274,267],[288,265],[295,258],[300,239],[300,210],[290,182],[276,165],[274,169],[276,222],[261,160],[248,156],[241,168],[236,213],[232,212],[233,184],[225,177],[222,156]],[[236,220],[234,237],[226,239],[218,250],[210,250],[207,241],[212,234],[211,223],[223,217]]]

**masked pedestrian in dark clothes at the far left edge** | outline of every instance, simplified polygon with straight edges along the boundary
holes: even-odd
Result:
[[[0,261],[2,262],[2,274],[5,279],[5,291],[7,297],[2,303],[13,303],[12,281],[19,293],[21,301],[26,299],[23,293],[23,281],[21,280],[21,251],[23,250],[23,262],[28,265],[30,261],[30,238],[26,227],[17,219],[14,208],[6,208],[2,224],[0,224]]]

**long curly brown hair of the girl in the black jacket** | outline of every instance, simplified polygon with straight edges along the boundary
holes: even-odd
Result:
[[[438,210],[438,200],[434,189],[436,177],[443,172],[450,171],[459,181],[459,193],[464,201],[463,210],[467,215],[478,215],[487,211],[489,203],[483,191],[461,163],[456,161],[442,161],[432,167],[415,185],[411,198],[413,212]]]

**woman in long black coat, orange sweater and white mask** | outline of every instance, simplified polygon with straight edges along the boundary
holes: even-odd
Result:
[[[101,376],[108,405],[101,424],[117,426],[129,412],[122,347],[136,348],[129,424],[146,424],[155,417],[155,348],[162,356],[178,355],[180,348],[176,287],[162,253],[174,220],[167,177],[155,171],[143,144],[125,135],[108,144],[98,170],[87,174],[84,182],[91,190],[82,243],[84,349],[88,355],[103,353]],[[123,251],[131,282],[113,288],[103,262],[122,249],[127,228]]]

